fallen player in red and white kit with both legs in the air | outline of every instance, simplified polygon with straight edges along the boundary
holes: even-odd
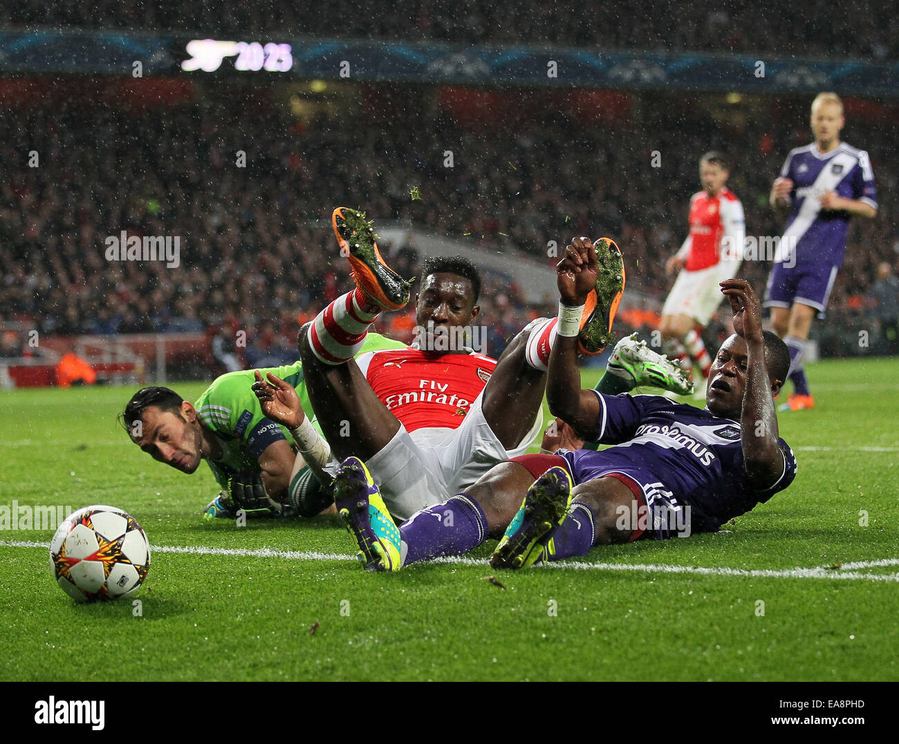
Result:
[[[415,304],[419,348],[354,360],[378,314],[405,306],[409,289],[381,258],[360,213],[336,209],[334,233],[357,288],[301,332],[303,373],[335,458],[325,469],[333,475],[352,460],[364,477],[377,481],[396,518],[453,497],[497,462],[525,452],[542,423],[547,362],[557,335],[577,336],[588,353],[612,338],[624,265],[618,246],[602,239],[595,246],[600,279],[588,303],[560,307],[558,318],[530,323],[498,361],[452,342],[454,331],[470,326],[480,312],[479,275],[459,257],[425,261]],[[585,238],[575,242],[594,250]],[[263,411],[292,430],[293,413],[302,409],[289,385],[271,376],[269,382],[276,387],[254,385]],[[339,503],[338,509],[343,511]]]

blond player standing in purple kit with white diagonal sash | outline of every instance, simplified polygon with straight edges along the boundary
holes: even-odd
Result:
[[[770,203],[791,208],[765,289],[771,325],[787,342],[794,394],[781,411],[814,408],[802,354],[814,314],[823,317],[846,247],[850,218],[877,215],[877,189],[868,153],[840,141],[845,124],[835,93],[812,102],[814,143],[790,151],[771,187]]]

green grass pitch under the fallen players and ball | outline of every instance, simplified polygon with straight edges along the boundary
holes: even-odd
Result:
[[[129,388],[2,392],[0,505],[118,506],[154,553],[139,606],[82,606],[33,546],[50,531],[0,531],[0,679],[899,679],[899,365],[810,380],[818,407],[779,417],[796,482],[726,533],[504,573],[490,541],[396,575],[337,518],[204,522],[212,475],[129,443]]]

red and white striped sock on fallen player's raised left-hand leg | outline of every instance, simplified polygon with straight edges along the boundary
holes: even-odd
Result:
[[[337,297],[316,315],[309,324],[308,339],[318,359],[336,365],[356,356],[365,341],[365,334],[380,314],[362,309],[365,305],[365,295],[360,289],[354,289]]]

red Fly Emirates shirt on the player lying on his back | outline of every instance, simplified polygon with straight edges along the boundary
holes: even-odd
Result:
[[[483,354],[433,354],[411,348],[371,351],[356,363],[406,431],[456,429],[496,367],[496,359]]]

